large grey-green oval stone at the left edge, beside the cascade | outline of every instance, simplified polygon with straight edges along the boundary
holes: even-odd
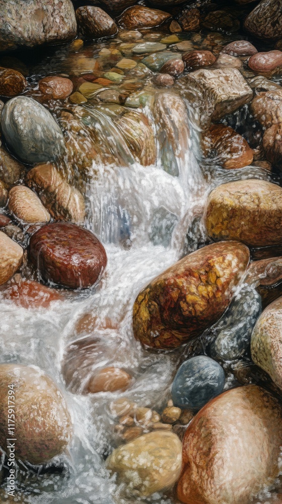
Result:
[[[25,163],[52,161],[64,152],[58,124],[33,98],[9,100],[1,114],[1,127],[9,148]]]

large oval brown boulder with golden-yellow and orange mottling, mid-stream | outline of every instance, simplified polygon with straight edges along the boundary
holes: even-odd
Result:
[[[145,346],[167,349],[199,336],[228,307],[249,257],[242,243],[213,243],[161,273],[135,299],[135,338]]]

